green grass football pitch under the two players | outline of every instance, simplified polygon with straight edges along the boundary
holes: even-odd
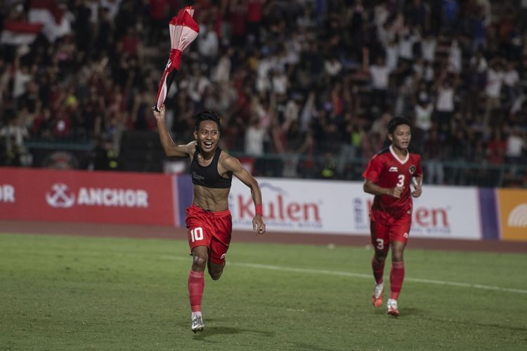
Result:
[[[233,241],[194,334],[186,241],[1,234],[0,350],[527,349],[526,255],[410,246],[397,319],[371,256]]]

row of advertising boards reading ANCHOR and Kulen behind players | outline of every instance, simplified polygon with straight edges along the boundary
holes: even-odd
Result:
[[[372,196],[360,182],[259,178],[271,232],[367,235]],[[0,219],[181,227],[188,175],[0,168]],[[252,230],[250,192],[233,180],[235,230]],[[412,237],[527,241],[527,190],[425,185]]]

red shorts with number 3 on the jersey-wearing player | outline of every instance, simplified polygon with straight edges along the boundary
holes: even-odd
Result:
[[[406,244],[410,236],[411,225],[411,215],[405,215],[392,221],[372,220],[370,222],[372,245],[375,250],[388,251],[390,243],[393,241],[401,241]]]

